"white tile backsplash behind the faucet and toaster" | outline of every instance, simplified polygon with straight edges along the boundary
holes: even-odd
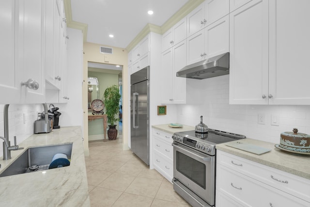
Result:
[[[4,136],[3,123],[4,105],[0,104],[0,136]],[[44,111],[42,104],[23,104],[9,105],[9,140],[11,145],[14,144],[14,136],[16,136],[17,144],[30,137],[34,131],[34,121],[37,119],[37,113]],[[0,157],[2,159],[3,149],[2,140],[0,140]]]

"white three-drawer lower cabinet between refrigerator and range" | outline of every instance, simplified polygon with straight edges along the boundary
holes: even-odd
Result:
[[[155,170],[169,182],[173,178],[173,147],[172,134],[153,128],[153,163]]]

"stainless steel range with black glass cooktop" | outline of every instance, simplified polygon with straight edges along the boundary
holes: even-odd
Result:
[[[246,136],[210,128],[204,133],[196,131],[177,132],[172,136],[173,189],[194,207],[213,207],[215,145],[244,139]]]

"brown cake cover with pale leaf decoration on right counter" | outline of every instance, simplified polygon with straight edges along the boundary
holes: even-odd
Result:
[[[293,132],[282,132],[280,147],[296,152],[310,152],[310,135],[298,133],[297,128]]]

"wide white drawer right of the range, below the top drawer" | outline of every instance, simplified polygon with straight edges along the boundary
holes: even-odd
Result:
[[[217,190],[251,207],[307,207],[310,203],[227,167],[217,165]]]

